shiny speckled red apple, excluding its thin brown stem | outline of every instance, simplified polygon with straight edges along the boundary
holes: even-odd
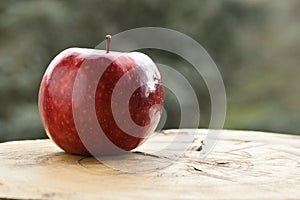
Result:
[[[81,74],[86,78],[82,83],[79,82],[81,90],[77,90],[74,96],[76,77],[83,68],[85,72]],[[95,73],[97,70],[103,71],[101,77]],[[123,85],[119,84],[121,92],[114,96],[112,102],[116,84],[128,72],[130,76],[123,78]],[[120,103],[124,101],[122,94],[129,91],[133,83],[139,87],[131,95],[128,106],[118,107],[124,105]],[[88,89],[92,85],[95,87],[94,93]],[[161,75],[145,54],[70,48],[57,55],[49,64],[40,85],[38,107],[47,135],[65,152],[81,155],[113,154],[116,153],[115,147],[124,151],[138,147],[154,132],[162,111],[163,95]],[[83,99],[93,102],[93,109],[84,108]],[[117,106],[118,123],[112,106]],[[80,128],[84,129],[80,135],[78,124],[74,121],[74,108],[82,110],[76,115],[76,120],[82,122]],[[131,119],[124,114],[126,112],[129,112]],[[90,116],[95,113],[106,140],[99,137],[102,133],[88,131],[88,126],[95,124],[91,122],[94,124],[89,125]],[[128,120],[145,128],[135,131]]]

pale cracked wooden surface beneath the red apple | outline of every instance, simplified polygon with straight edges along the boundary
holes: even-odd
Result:
[[[158,133],[127,158],[149,161],[149,165],[170,161],[171,158],[156,155],[155,150],[175,135],[191,132]],[[0,197],[300,199],[300,136],[223,130],[213,151],[199,158],[206,134],[207,130],[197,130],[188,150],[172,165],[139,173],[126,173],[95,158],[63,153],[49,140],[2,143]]]

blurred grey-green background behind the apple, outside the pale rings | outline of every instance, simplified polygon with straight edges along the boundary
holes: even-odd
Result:
[[[216,62],[227,92],[225,128],[300,134],[298,0],[0,1],[0,141],[44,138],[37,109],[42,75],[73,46],[93,48],[107,33],[144,26],[183,32]],[[189,78],[207,127],[210,100],[201,77],[170,53],[144,50]],[[166,128],[180,110],[166,92]]]

